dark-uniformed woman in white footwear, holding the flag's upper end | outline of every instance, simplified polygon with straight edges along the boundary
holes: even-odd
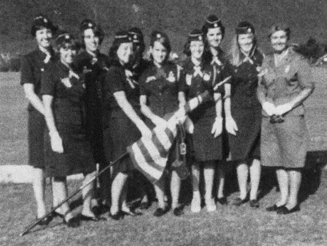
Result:
[[[205,202],[209,212],[215,211],[216,206],[212,199],[212,188],[214,178],[214,166],[217,160],[222,159],[222,141],[218,137],[222,132],[222,106],[221,96],[216,95],[214,100],[213,86],[215,85],[216,71],[210,63],[203,63],[204,51],[203,33],[193,30],[184,46],[184,53],[190,56],[183,64],[181,83],[187,100],[198,96],[209,90],[210,97],[206,99],[197,109],[189,113],[186,119],[186,130],[188,144],[191,148],[192,158],[192,187],[193,199],[191,203],[192,212],[200,212],[201,198],[199,193],[199,165],[204,168]]]

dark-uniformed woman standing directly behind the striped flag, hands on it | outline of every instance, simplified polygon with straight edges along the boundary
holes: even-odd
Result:
[[[163,116],[167,113],[174,113],[179,106],[185,104],[184,93],[180,91],[179,68],[177,65],[167,61],[171,51],[168,36],[164,32],[153,31],[150,40],[150,52],[152,64],[139,80],[141,111],[147,117],[147,125],[150,128],[165,126],[166,120]],[[173,163],[177,159],[176,144],[170,150],[170,160]],[[176,170],[171,175],[171,207],[175,215],[181,215],[182,209],[178,205],[181,180]],[[158,198],[158,209],[154,215],[164,215],[169,209],[164,201],[165,178],[161,178],[154,189]]]

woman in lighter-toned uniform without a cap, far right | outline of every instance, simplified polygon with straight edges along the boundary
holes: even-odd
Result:
[[[300,210],[298,193],[306,155],[307,129],[302,102],[314,89],[308,62],[287,46],[290,29],[274,25],[269,39],[274,53],[262,64],[258,99],[262,105],[261,163],[275,167],[280,199],[267,211],[289,214]],[[279,116],[279,117],[274,117]]]

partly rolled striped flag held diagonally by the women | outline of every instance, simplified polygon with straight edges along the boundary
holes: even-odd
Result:
[[[213,88],[214,91],[230,78],[231,76],[216,84]],[[167,124],[165,126],[156,126],[152,130],[151,138],[141,137],[137,142],[127,147],[127,152],[134,167],[144,174],[150,182],[156,183],[163,175],[169,149],[177,135],[177,124],[183,121],[181,119],[185,119],[186,113],[198,107],[208,95],[209,92],[205,91],[190,99],[183,108],[175,113],[165,115],[164,119],[167,120]]]

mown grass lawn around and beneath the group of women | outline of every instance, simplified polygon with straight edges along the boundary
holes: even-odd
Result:
[[[326,164],[326,69],[314,70],[316,90],[307,102],[310,150],[301,186],[301,212],[290,215],[268,213],[265,207],[278,197],[274,173],[263,170],[259,209],[249,204],[240,207],[217,205],[208,213],[204,207],[198,214],[190,212],[175,217],[171,211],[162,218],[153,217],[154,203],[143,216],[126,217],[122,221],[83,222],[70,229],[55,218],[48,227],[36,227],[26,236],[18,235],[35,219],[35,204],[30,184],[0,184],[0,245],[326,245],[327,171]],[[19,73],[0,73],[0,165],[27,164],[26,100],[19,85]],[[80,181],[70,181],[72,192]],[[226,193],[232,200],[237,194],[234,172],[227,177]],[[188,204],[190,184],[185,183],[181,201]],[[51,207],[51,189],[46,201]],[[187,199],[185,199],[187,197]],[[75,209],[78,213],[80,207]]]

